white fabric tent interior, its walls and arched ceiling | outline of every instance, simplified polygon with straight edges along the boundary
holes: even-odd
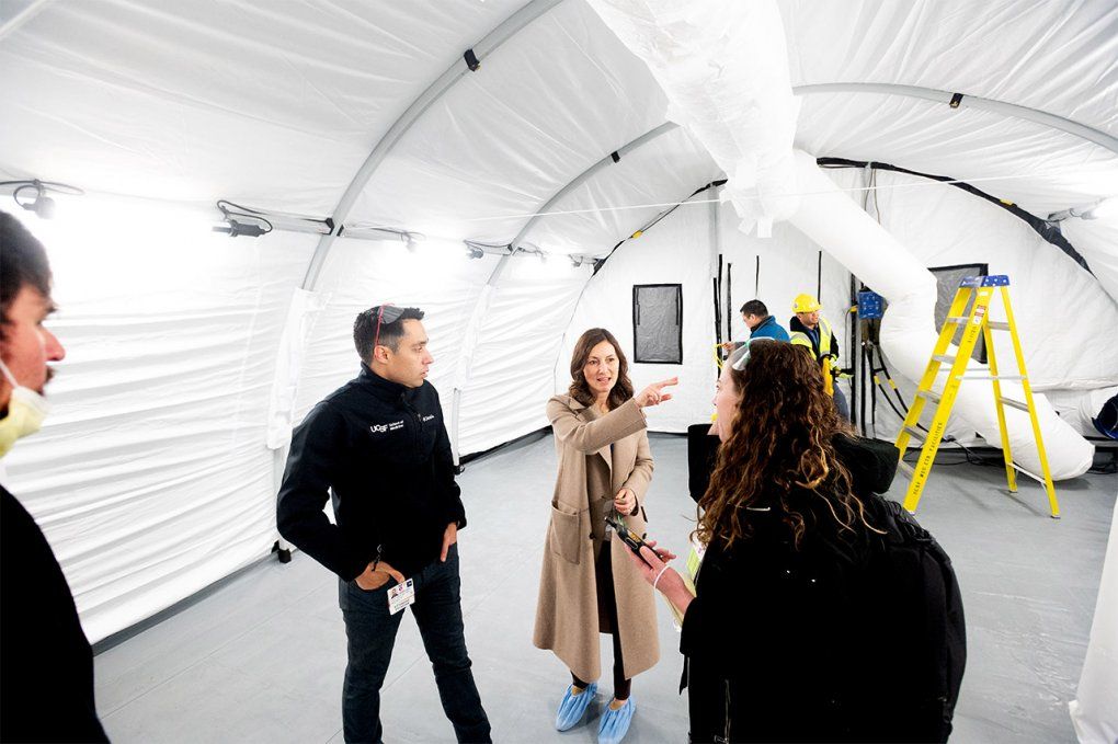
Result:
[[[546,426],[581,330],[632,350],[636,285],[680,285],[682,363],[634,378],[680,376],[651,421],[682,431],[710,413],[716,304],[740,338],[746,299],[784,321],[818,292],[849,355],[865,282],[910,316],[882,331],[907,397],[923,267],[986,265],[1063,417],[1053,469],[1086,469],[1076,430],[1118,385],[1118,8],[656,4],[0,7],[0,180],[85,192],[48,189],[49,221],[4,197],[50,250],[68,347],[4,483],[91,640],[268,553],[291,427],[382,301],[427,312],[465,456]],[[720,36],[681,36],[704,13]]]

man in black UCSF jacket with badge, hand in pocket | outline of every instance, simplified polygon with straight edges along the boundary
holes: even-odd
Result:
[[[295,430],[280,533],[339,576],[349,662],[347,742],[380,742],[380,687],[410,604],[459,742],[489,742],[462,623],[457,531],[466,525],[423,312],[380,305],[353,323],[361,371]],[[323,514],[332,495],[337,524]]]

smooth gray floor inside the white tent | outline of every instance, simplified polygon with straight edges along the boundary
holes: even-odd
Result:
[[[648,498],[653,536],[686,544],[686,445],[655,436]],[[553,731],[563,666],[531,645],[548,504],[550,438],[471,465],[461,483],[463,605],[474,673],[501,742],[593,742],[608,683],[589,725]],[[1118,478],[1060,484],[1063,518],[1050,519],[1040,487],[1005,494],[1004,473],[937,466],[919,518],[956,564],[969,659],[957,742],[1072,742],[1074,697],[1098,591]],[[894,488],[898,496],[900,484]],[[97,708],[115,742],[341,742],[344,631],[332,574],[296,553],[266,562],[173,618],[96,658]],[[660,612],[663,656],[634,680],[626,742],[685,742],[676,694],[678,636]],[[608,669],[608,643],[604,645]],[[386,740],[449,742],[415,623],[405,620],[386,681]]]

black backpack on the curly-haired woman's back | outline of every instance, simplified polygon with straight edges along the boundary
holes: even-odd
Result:
[[[873,502],[871,523],[887,532],[872,559],[873,605],[879,631],[897,651],[881,670],[887,707],[909,741],[946,742],[967,660],[959,584],[927,530],[897,502]]]

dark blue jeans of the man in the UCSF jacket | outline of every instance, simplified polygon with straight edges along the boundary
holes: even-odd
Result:
[[[411,613],[435,669],[443,712],[459,742],[490,742],[489,718],[470,670],[463,633],[458,546],[451,546],[446,563],[436,560],[409,578],[416,586]],[[381,741],[380,687],[404,617],[404,612],[388,612],[388,589],[395,584],[389,580],[380,589],[366,591],[352,581],[339,581],[338,603],[345,620],[349,657],[342,685],[342,728],[347,742]]]

